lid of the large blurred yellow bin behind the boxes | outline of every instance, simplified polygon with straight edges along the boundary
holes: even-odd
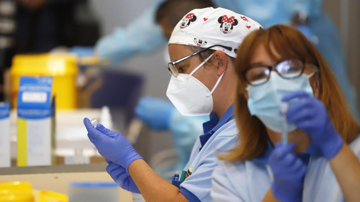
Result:
[[[59,76],[78,73],[77,56],[67,53],[15,55],[12,75]]]

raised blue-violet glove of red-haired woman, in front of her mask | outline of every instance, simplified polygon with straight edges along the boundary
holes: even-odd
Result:
[[[289,93],[282,101],[293,98],[298,98],[298,101],[290,105],[286,119],[302,129],[320,148],[325,158],[332,159],[340,151],[343,139],[334,128],[325,105],[318,98],[302,91]]]

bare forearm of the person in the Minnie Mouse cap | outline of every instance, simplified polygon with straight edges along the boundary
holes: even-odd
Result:
[[[129,174],[145,201],[188,201],[177,187],[157,175],[143,159],[130,164]]]

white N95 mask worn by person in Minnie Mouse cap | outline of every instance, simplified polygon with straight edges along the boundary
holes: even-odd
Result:
[[[184,116],[209,115],[212,111],[212,93],[215,91],[217,85],[219,85],[225,71],[217,80],[212,91],[192,76],[212,55],[197,66],[190,74],[179,74],[177,77],[174,77],[174,75],[171,76],[166,95],[172,104],[175,105],[176,109]]]

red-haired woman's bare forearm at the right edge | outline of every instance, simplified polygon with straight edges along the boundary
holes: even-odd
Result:
[[[337,155],[329,160],[346,201],[359,201],[360,161],[346,143]]]

